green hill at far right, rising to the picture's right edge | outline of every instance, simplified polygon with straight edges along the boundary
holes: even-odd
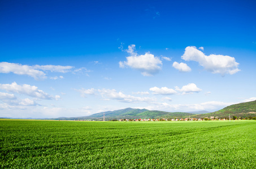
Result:
[[[202,117],[214,116],[214,117],[225,118],[225,117],[229,117],[229,114],[231,115],[231,118],[234,115],[236,117],[242,117],[242,118],[256,116],[256,100],[245,102],[245,103],[233,104],[225,107],[224,109],[218,110],[216,112],[194,115],[193,117],[202,118]]]

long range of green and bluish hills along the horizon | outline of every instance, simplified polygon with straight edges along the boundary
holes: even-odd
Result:
[[[103,114],[105,114],[105,120],[113,119],[161,119],[161,118],[205,118],[205,117],[219,117],[228,118],[229,114],[231,117],[256,117],[256,100],[249,101],[246,103],[233,104],[225,107],[224,109],[218,110],[216,112],[198,111],[198,112],[163,112],[158,110],[147,110],[147,109],[132,109],[126,108],[121,110],[107,111],[96,113],[83,117],[59,117],[59,118],[47,118],[53,120],[96,120],[102,121]],[[33,119],[33,118],[27,118]]]

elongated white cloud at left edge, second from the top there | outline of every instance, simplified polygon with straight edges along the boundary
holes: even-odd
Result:
[[[0,89],[8,92],[15,92],[18,94],[24,94],[38,99],[55,99],[56,97],[46,94],[44,91],[39,90],[36,86],[29,84],[23,84],[22,86],[13,82],[11,84],[0,84]],[[58,96],[57,96],[58,97]]]

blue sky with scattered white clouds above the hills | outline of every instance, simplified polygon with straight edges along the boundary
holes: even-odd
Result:
[[[0,117],[256,100],[255,1],[1,1]]]

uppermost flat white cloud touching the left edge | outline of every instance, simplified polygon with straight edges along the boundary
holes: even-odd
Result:
[[[29,75],[34,79],[46,78],[45,73],[34,69],[32,66],[15,63],[0,63],[0,73],[14,73],[19,75]]]

